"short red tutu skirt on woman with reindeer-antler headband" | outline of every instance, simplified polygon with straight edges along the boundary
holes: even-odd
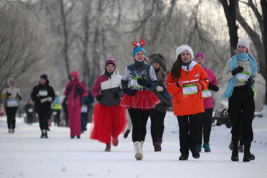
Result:
[[[134,96],[127,94],[124,95],[124,97],[120,101],[120,106],[126,109],[150,110],[151,108],[154,108],[158,103],[160,103],[158,97],[147,90],[137,91]]]

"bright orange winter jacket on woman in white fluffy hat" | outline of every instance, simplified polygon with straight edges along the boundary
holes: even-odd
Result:
[[[183,81],[183,86],[190,83],[200,83],[202,84],[202,90],[206,90],[209,84],[207,73],[195,61],[192,61],[188,67],[182,66],[179,79]],[[193,95],[184,95],[183,87],[176,85],[179,79],[172,79],[170,72],[166,81],[167,91],[172,95],[174,115],[204,113],[201,91],[198,90],[198,93]]]

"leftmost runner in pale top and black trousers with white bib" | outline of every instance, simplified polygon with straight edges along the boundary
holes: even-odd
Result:
[[[2,98],[5,99],[5,111],[7,115],[8,133],[14,133],[16,127],[16,113],[18,101],[21,100],[19,88],[16,87],[16,80],[10,78],[7,81],[8,87],[2,92]]]

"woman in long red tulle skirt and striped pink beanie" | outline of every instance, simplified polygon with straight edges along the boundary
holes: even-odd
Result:
[[[106,144],[105,151],[111,151],[111,144],[118,145],[118,136],[126,126],[125,109],[119,105],[123,96],[121,78],[114,58],[108,58],[105,73],[97,78],[92,90],[99,103],[95,105],[90,139]]]

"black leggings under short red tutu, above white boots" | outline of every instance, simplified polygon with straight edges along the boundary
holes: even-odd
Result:
[[[150,115],[150,110],[143,111],[138,109],[130,109],[128,111],[133,123],[133,142],[145,141],[147,134],[146,127]]]

